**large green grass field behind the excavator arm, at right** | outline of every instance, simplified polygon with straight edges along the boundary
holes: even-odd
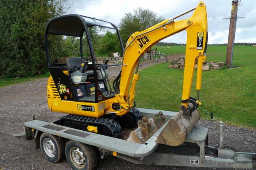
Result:
[[[170,55],[185,52],[184,46],[171,46],[170,48],[158,50]],[[207,60],[225,61],[226,49],[226,46],[208,46]],[[138,107],[179,110],[183,70],[167,69],[168,65],[168,63],[162,63],[141,71],[141,78],[136,88]],[[213,112],[217,120],[255,129],[256,47],[236,46],[233,65],[242,67],[203,72],[200,93],[202,105],[199,111],[204,119],[209,119],[210,112]],[[191,96],[196,96],[195,82]]]

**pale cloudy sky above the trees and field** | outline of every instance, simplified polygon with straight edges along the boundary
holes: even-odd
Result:
[[[165,19],[177,16],[197,6],[199,0],[75,0],[68,13],[107,20],[119,25],[127,12],[142,7],[150,9]],[[231,0],[204,0],[208,15],[208,43],[227,43],[229,20],[222,18],[231,15]],[[241,0],[237,21],[235,42],[256,42],[256,1]],[[187,14],[188,18],[190,14]],[[126,37],[123,37],[126,38]],[[186,42],[186,31],[168,37],[163,42]]]

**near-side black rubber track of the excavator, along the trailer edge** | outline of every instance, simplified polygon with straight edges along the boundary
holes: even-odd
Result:
[[[112,136],[115,138],[119,138],[121,136],[121,127],[119,123],[109,118],[93,118],[68,114],[67,116],[61,117],[61,119],[55,123],[84,131],[88,131],[88,126],[94,126],[97,127],[98,134]]]

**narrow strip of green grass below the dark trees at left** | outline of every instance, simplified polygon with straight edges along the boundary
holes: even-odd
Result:
[[[4,87],[7,85],[14,85],[17,83],[22,83],[25,81],[30,81],[30,80],[34,80],[37,78],[44,78],[44,77],[48,77],[50,74],[43,74],[41,76],[31,76],[31,77],[17,77],[17,78],[2,78],[0,79],[0,87]]]

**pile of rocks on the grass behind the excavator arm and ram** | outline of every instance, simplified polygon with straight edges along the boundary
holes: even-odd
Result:
[[[203,63],[203,71],[207,70],[214,70],[214,69],[220,69],[222,66],[224,66],[224,62],[213,62],[213,61],[205,61]],[[173,68],[173,69],[184,69],[185,67],[185,57],[180,56],[179,58],[171,60],[170,65],[167,66],[168,69]],[[195,69],[197,69],[197,62],[195,64]]]

